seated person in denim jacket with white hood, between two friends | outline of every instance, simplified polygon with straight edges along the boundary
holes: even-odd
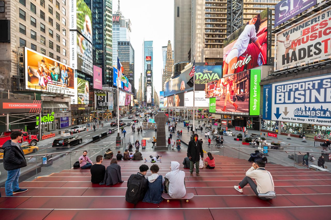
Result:
[[[165,179],[158,174],[160,170],[158,165],[153,164],[149,169],[151,170],[152,175],[147,177],[148,190],[145,194],[143,202],[158,204],[163,201],[161,195],[163,193],[163,185],[165,183]]]

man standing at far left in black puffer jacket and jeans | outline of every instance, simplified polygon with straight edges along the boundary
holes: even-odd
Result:
[[[26,160],[21,147],[18,143],[23,137],[21,131],[13,131],[10,133],[11,140],[6,141],[2,145],[3,152],[3,167],[7,170],[7,181],[5,183],[6,196],[13,196],[16,193],[23,193],[27,189],[20,189],[19,177],[21,168],[26,166]]]

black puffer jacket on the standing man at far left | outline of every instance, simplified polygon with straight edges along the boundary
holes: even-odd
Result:
[[[5,170],[13,170],[26,166],[24,153],[17,146],[11,145],[12,140],[6,141],[2,145],[3,152],[3,167]]]

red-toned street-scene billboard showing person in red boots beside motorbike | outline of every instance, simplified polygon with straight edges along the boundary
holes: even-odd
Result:
[[[249,115],[249,71],[206,84],[206,98],[216,98],[216,113]]]

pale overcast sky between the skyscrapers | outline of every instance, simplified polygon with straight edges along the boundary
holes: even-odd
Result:
[[[153,85],[155,91],[162,89],[162,46],[171,41],[173,50],[173,0],[137,1],[120,0],[120,10],[125,19],[131,21],[130,41],[134,49],[135,89],[139,89],[142,72],[143,41],[153,41]],[[113,14],[117,11],[118,0],[113,0]]]

